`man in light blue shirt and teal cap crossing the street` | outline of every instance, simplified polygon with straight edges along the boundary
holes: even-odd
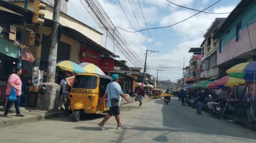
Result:
[[[108,97],[108,103],[107,103],[107,107],[109,108],[108,110],[108,114],[105,115],[104,119],[101,121],[101,123],[98,123],[98,127],[101,129],[101,130],[105,130],[104,128],[104,124],[108,121],[108,119],[111,117],[111,116],[115,116],[115,120],[117,122],[117,127],[116,129],[123,129],[125,128],[124,125],[121,124],[121,121],[120,121],[120,109],[119,109],[119,106],[120,106],[120,103],[121,103],[121,97],[125,98],[125,100],[127,102],[129,102],[129,99],[123,94],[122,92],[122,89],[121,89],[121,86],[120,84],[118,84],[119,82],[119,75],[118,74],[113,74],[112,76],[112,82],[110,82],[108,85],[107,85],[107,88],[106,88],[106,91],[105,91],[105,94],[104,96],[102,97],[101,99],[101,104],[104,103],[104,100],[106,97]],[[118,99],[118,103],[117,103],[117,106],[113,107],[112,106],[112,102],[111,102],[111,99],[113,98],[116,98]]]

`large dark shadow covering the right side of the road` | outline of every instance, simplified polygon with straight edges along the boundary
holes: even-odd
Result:
[[[203,116],[197,115],[196,110],[190,106],[181,106],[177,98],[171,98],[170,104],[165,104],[163,99],[156,100],[155,104],[163,104],[162,106],[162,120],[163,125],[168,127],[170,131],[197,133],[213,136],[230,136],[235,138],[256,139],[256,136],[249,136],[251,131],[239,131],[226,120],[211,117],[208,113]],[[231,128],[230,128],[231,126]],[[140,128],[139,128],[140,129]],[[143,128],[148,130],[148,128]],[[136,130],[136,128],[135,128]],[[142,129],[141,129],[142,130]],[[162,129],[149,129],[162,131]],[[237,133],[237,132],[240,132]],[[158,136],[157,138],[160,138]],[[161,137],[162,138],[162,137]]]

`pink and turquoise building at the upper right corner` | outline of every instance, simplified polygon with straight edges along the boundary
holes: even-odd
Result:
[[[219,75],[233,65],[256,60],[256,0],[241,0],[213,36]]]

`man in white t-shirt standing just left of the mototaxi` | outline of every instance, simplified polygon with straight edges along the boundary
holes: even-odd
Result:
[[[64,73],[63,79],[61,80],[61,87],[62,87],[62,95],[61,95],[61,110],[64,110],[63,105],[67,102],[67,93],[68,93],[68,84],[66,78],[68,77],[67,73]],[[65,109],[67,110],[67,109]]]

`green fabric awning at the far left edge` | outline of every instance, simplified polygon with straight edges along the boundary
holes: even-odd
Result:
[[[3,34],[0,34],[0,52],[13,58],[20,57],[19,46],[13,45],[12,42],[4,38]]]

